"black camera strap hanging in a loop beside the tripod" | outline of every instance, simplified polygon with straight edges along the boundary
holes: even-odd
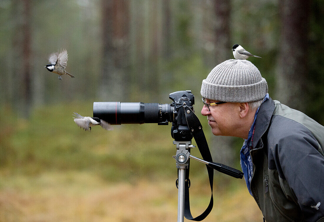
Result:
[[[189,108],[187,105],[183,105],[184,112],[186,115],[188,127],[191,130],[191,134],[196,141],[199,152],[201,153],[203,160],[207,162],[213,162],[212,155],[210,154],[209,147],[206,141],[205,134],[203,133],[203,127],[196,116],[196,114]],[[188,220],[201,221],[205,219],[208,214],[213,209],[214,199],[213,199],[213,180],[214,180],[214,169],[206,165],[210,189],[212,191],[211,198],[207,209],[198,217],[193,218],[190,212],[190,203],[189,203],[189,168],[186,169],[186,183],[185,183],[185,195],[184,195],[184,216]]]

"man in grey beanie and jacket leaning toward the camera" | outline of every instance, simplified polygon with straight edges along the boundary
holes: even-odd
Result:
[[[244,139],[241,167],[266,221],[324,221],[324,127],[272,100],[260,71],[230,59],[203,80],[214,135]]]

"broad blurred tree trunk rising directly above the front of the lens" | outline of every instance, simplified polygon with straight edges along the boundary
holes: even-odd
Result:
[[[127,100],[129,89],[129,1],[102,0],[102,75],[104,100]]]

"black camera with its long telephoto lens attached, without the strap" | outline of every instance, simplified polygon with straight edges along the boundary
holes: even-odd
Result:
[[[111,125],[157,123],[168,125],[172,122],[171,136],[176,141],[190,141],[189,130],[183,105],[193,110],[194,95],[190,90],[169,94],[170,104],[144,102],[94,102],[93,117],[98,117]],[[194,110],[193,110],[194,111]]]

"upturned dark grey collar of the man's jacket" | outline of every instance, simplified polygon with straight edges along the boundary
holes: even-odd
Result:
[[[255,120],[255,130],[252,140],[253,149],[256,148],[261,136],[268,129],[273,111],[274,101],[269,97],[269,100],[266,100],[261,104],[257,119]]]

